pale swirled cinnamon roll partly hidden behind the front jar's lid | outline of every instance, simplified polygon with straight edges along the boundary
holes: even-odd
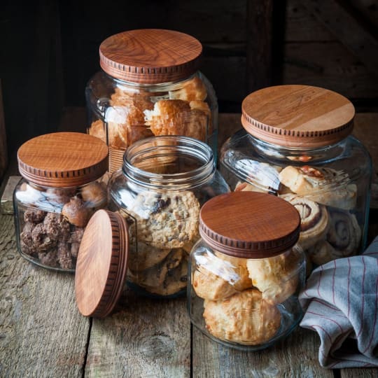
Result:
[[[307,197],[299,195],[282,195],[284,200],[290,202],[300,214],[300,238],[298,243],[307,249],[317,241],[325,239],[329,228],[327,208]]]

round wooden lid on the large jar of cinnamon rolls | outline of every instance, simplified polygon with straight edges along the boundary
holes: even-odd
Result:
[[[316,148],[337,143],[353,129],[354,106],[321,87],[277,85],[249,94],[241,104],[249,134],[279,146]]]

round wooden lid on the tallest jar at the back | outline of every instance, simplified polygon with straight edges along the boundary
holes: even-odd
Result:
[[[114,78],[156,84],[195,73],[202,44],[193,36],[165,29],[136,29],[106,38],[100,66]]]

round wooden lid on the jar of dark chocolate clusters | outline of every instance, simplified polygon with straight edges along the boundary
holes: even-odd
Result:
[[[101,139],[81,132],[55,132],[20,146],[18,170],[40,186],[80,186],[105,174],[108,156],[109,148]]]

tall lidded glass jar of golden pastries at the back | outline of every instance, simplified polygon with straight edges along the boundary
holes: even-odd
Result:
[[[110,36],[99,47],[102,71],[85,89],[87,132],[109,145],[109,172],[139,139],[184,135],[217,153],[218,102],[198,71],[202,45],[165,29],[136,29]]]

